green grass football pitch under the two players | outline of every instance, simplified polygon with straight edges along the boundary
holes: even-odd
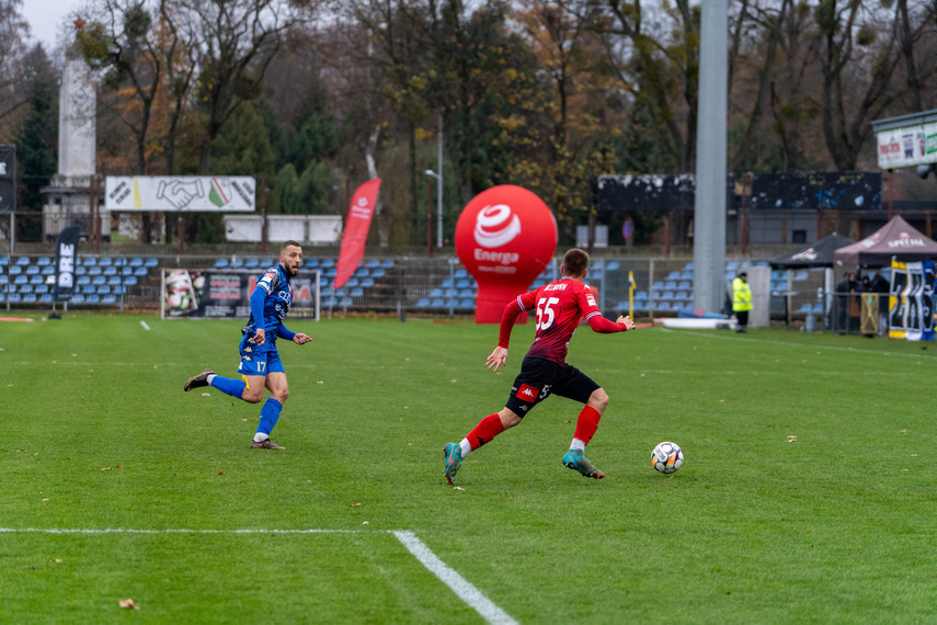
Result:
[[[562,467],[579,405],[552,397],[454,489],[443,445],[504,405],[533,325],[493,374],[494,326],[293,321],[283,452],[248,448],[259,405],[182,391],[235,375],[240,326],[0,323],[0,622],[484,621],[392,531],[521,623],[934,620],[933,344],[583,328],[608,477]],[[106,529],[155,532],[23,531]]]

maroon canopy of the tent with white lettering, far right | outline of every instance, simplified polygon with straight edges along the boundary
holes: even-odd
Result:
[[[937,258],[937,243],[911,224],[895,217],[857,243],[834,253],[836,264],[845,266],[885,266],[892,257],[901,262]]]

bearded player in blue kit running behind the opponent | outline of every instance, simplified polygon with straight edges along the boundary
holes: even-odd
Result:
[[[297,345],[312,340],[302,332],[287,330],[283,325],[293,303],[293,285],[289,279],[299,273],[301,264],[302,247],[296,241],[286,241],[279,248],[279,264],[266,270],[258,280],[256,288],[251,294],[251,317],[248,325],[241,328],[243,337],[238,373],[243,380],[221,377],[215,375],[212,370],[205,370],[185,383],[186,391],[202,386],[214,386],[221,393],[249,404],[259,404],[263,399],[264,387],[268,388],[271,396],[261,409],[260,424],[251,441],[251,448],[284,448],[270,440],[283,404],[289,397],[286,371],[276,351],[276,339],[286,339]]]

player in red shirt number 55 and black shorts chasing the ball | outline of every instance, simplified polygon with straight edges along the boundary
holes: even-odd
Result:
[[[521,312],[536,311],[537,336],[524,356],[521,373],[514,379],[507,404],[500,412],[482,419],[460,443],[448,443],[443,450],[446,458],[446,481],[455,484],[462,459],[494,436],[518,424],[527,412],[551,393],[567,397],[585,407],[579,413],[570,451],[563,456],[563,466],[585,477],[603,478],[605,474],[585,457],[585,446],[598,428],[598,420],[608,406],[608,395],[587,375],[565,363],[570,339],[585,318],[595,332],[612,333],[632,330],[635,322],[628,317],[609,321],[602,316],[592,289],[582,281],[589,270],[589,254],[571,249],[563,257],[560,273],[563,277],[536,291],[519,295],[504,308],[498,346],[488,356],[488,368],[507,362],[511,330]]]

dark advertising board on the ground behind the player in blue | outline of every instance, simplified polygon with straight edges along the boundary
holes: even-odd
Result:
[[[247,321],[251,316],[251,294],[260,275],[256,271],[168,270],[163,273],[162,318],[240,318]],[[289,319],[319,319],[318,277],[319,272],[312,271],[290,279]]]

